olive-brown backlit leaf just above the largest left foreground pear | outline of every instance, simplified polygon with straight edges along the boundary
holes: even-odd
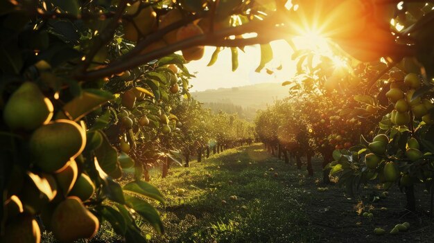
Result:
[[[55,117],[57,119],[72,118],[72,120],[77,121],[112,99],[112,93],[107,91],[86,89],[81,96],[67,102],[67,104],[62,107],[62,111],[58,111]]]

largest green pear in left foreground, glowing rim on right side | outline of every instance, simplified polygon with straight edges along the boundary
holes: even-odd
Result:
[[[33,132],[29,147],[35,164],[44,172],[60,171],[86,145],[86,132],[72,120],[56,120]]]

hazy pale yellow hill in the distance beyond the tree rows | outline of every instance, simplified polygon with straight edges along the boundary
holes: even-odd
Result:
[[[238,114],[242,118],[253,120],[258,109],[264,109],[274,100],[288,96],[288,89],[280,83],[262,83],[229,89],[209,89],[193,92],[191,96],[214,112],[221,109],[229,114]]]

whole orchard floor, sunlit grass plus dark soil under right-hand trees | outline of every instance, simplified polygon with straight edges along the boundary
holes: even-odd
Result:
[[[383,189],[374,184],[354,198],[338,186],[318,190],[325,187],[321,162],[314,159],[315,174],[306,177],[305,165],[297,170],[252,145],[190,168],[174,166],[166,179],[152,170],[150,182],[166,197],[166,204],[157,205],[166,233],[141,225],[150,242],[434,242],[433,219],[423,210],[403,211],[405,195],[396,186],[375,202]],[[422,186],[415,189],[417,206],[426,210],[429,195]],[[403,222],[410,222],[409,231],[374,235],[376,227],[388,232]],[[96,238],[92,242],[119,242],[107,231]]]

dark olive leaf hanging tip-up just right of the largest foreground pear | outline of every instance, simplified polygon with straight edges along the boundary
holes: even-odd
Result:
[[[105,134],[102,135],[103,143],[97,150],[95,150],[95,155],[101,169],[106,174],[110,174],[120,166],[118,162],[118,152],[116,148],[112,146],[110,141],[108,141],[107,136],[105,136]]]

